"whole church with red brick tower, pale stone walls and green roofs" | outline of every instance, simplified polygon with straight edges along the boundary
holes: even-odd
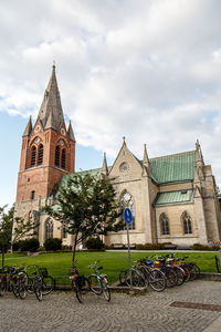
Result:
[[[210,165],[204,165],[199,142],[192,151],[149,158],[146,145],[139,160],[127,147],[112,165],[104,155],[99,169],[88,170],[113,179],[117,199],[133,212],[131,243],[172,242],[178,247],[208,245],[221,239],[221,212]],[[18,176],[15,216],[39,224],[36,237],[73,238],[59,221],[41,211],[51,204],[50,194],[65,176],[75,176],[75,137],[70,122],[66,128],[56,82],[55,66],[44,93],[38,118],[30,117],[22,136]],[[126,230],[109,232],[106,245],[127,243]]]

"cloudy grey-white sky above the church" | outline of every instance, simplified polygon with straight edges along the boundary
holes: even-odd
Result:
[[[0,0],[0,112],[38,114],[53,60],[77,143],[138,157],[199,138],[221,183],[220,0]]]

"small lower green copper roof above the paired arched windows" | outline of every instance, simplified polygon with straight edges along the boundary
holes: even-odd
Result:
[[[160,193],[155,206],[193,201],[193,189]]]

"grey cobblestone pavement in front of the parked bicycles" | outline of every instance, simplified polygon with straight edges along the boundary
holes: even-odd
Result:
[[[0,298],[0,331],[203,331],[221,317],[221,312],[172,308],[173,301],[221,304],[221,283],[194,281],[166,289],[128,295],[87,293],[80,304],[72,292],[54,292],[39,302],[28,294],[19,300],[13,294]]]

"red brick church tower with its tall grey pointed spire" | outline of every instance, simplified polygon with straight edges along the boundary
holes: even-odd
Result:
[[[39,209],[63,175],[74,172],[75,138],[70,122],[66,129],[55,75],[55,65],[44,93],[35,124],[31,117],[22,135],[15,216],[36,221]]]

